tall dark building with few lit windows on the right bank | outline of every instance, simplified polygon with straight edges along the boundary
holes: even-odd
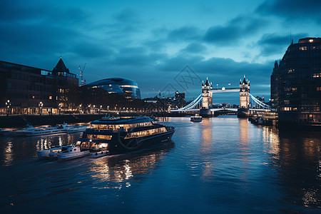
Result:
[[[299,39],[275,61],[271,102],[279,123],[321,124],[321,38]]]

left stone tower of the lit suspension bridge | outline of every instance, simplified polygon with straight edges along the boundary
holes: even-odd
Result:
[[[213,93],[209,91],[212,89],[212,83],[208,81],[206,78],[206,82],[202,83],[202,106],[200,108],[200,115],[201,116],[210,116],[210,108],[212,107],[213,103]]]

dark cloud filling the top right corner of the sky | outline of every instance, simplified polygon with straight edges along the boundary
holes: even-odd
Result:
[[[267,0],[258,6],[259,14],[273,14],[291,19],[312,19],[321,21],[320,0]]]

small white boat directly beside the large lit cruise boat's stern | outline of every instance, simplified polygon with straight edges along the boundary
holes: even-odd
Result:
[[[88,150],[81,151],[80,146],[63,146],[61,153],[57,154],[58,161],[68,161],[74,158],[81,158],[84,156],[89,156],[90,152]]]

